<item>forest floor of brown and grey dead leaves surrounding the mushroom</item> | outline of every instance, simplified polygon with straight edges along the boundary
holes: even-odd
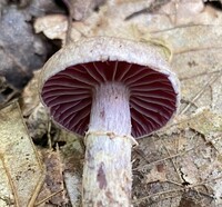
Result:
[[[0,1],[0,206],[81,206],[84,146],[39,100],[61,47],[110,36],[158,47],[181,83],[178,115],[132,150],[134,207],[222,207],[222,3]],[[34,144],[34,145],[33,145]]]

